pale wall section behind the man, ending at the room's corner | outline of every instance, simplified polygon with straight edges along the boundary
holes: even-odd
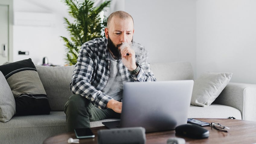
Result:
[[[125,0],[134,19],[134,40],[149,51],[149,62],[189,61],[196,71],[194,0]]]

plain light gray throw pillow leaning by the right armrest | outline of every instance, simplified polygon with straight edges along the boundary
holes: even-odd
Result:
[[[219,96],[231,79],[232,73],[203,73],[194,81],[191,104],[209,106]]]

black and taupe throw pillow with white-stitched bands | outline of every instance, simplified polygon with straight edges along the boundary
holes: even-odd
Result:
[[[0,66],[16,103],[16,114],[50,114],[50,105],[31,59]]]

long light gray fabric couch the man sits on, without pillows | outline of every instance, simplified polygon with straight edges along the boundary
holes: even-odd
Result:
[[[64,104],[72,93],[69,83],[74,66],[36,66],[45,88],[52,111],[49,115],[14,116],[10,121],[0,122],[0,143],[35,144],[44,139],[66,132]],[[158,81],[194,79],[189,62],[152,63],[151,68]],[[255,120],[254,102],[256,85],[229,83],[209,107],[190,106],[190,118],[228,118]],[[91,127],[103,126],[91,122]]]

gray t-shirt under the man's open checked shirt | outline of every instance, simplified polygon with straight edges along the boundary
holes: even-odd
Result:
[[[102,92],[116,101],[121,101],[123,96],[123,82],[118,66],[119,61],[114,59],[110,53],[108,55],[110,59],[110,76]]]

